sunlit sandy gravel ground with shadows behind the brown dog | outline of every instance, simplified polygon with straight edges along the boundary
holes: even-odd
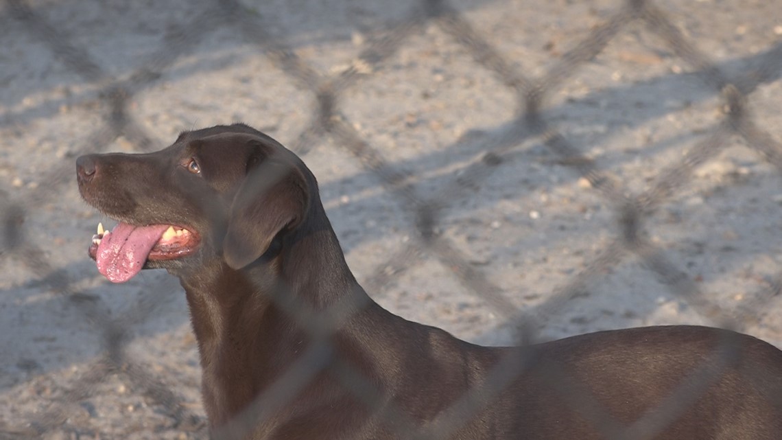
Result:
[[[0,5],[0,210],[6,231],[14,231],[0,247],[0,438],[31,435],[40,424],[48,427],[44,438],[199,438],[199,365],[184,294],[165,272],[118,286],[99,276],[85,250],[106,219],[78,196],[75,157],[140,151],[144,142],[162,147],[181,130],[232,121],[298,145],[313,119],[314,94],[264,55],[263,45],[211,20],[206,2],[25,4],[48,24],[33,26],[11,3]],[[361,51],[408,20],[416,5],[243,3],[244,13],[324,77],[356,66]],[[655,5],[728,78],[780,56],[775,2]],[[620,6],[454,2],[476,33],[530,78],[543,77]],[[166,45],[174,49],[161,56]],[[624,192],[643,193],[724,118],[718,91],[696,70],[633,22],[549,95],[543,117]],[[149,80],[135,81],[143,75]],[[749,95],[755,124],[777,142],[778,78],[778,71],[766,76]],[[115,102],[106,91],[125,82],[135,84],[123,101],[133,129],[106,137],[101,128],[112,127]],[[648,240],[719,305],[718,316],[677,295],[630,253],[598,271],[575,298],[547,308],[555,292],[611,249],[619,229],[612,200],[538,137],[502,153],[484,167],[484,179],[462,179],[511,128],[516,106],[511,88],[432,22],[411,31],[339,100],[355,132],[410,176],[418,198],[445,205],[439,239],[535,316],[541,339],[741,318],[745,332],[782,346],[782,305],[762,296],[777,286],[782,261],[778,168],[731,136],[645,218]],[[436,253],[414,252],[404,268],[389,265],[393,255],[422,247],[414,212],[376,173],[328,135],[310,137],[306,147],[303,160],[321,183],[348,263],[376,301],[468,341],[513,342],[508,308],[476,294]],[[23,212],[15,208],[20,203]],[[101,359],[120,344],[106,336],[111,328],[123,330],[124,359],[142,373],[100,373]],[[175,423],[173,406],[193,420]]]

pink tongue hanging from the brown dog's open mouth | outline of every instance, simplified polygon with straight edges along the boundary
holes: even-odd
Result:
[[[168,225],[132,226],[120,222],[98,245],[98,272],[112,283],[124,283],[144,267],[149,251]]]

